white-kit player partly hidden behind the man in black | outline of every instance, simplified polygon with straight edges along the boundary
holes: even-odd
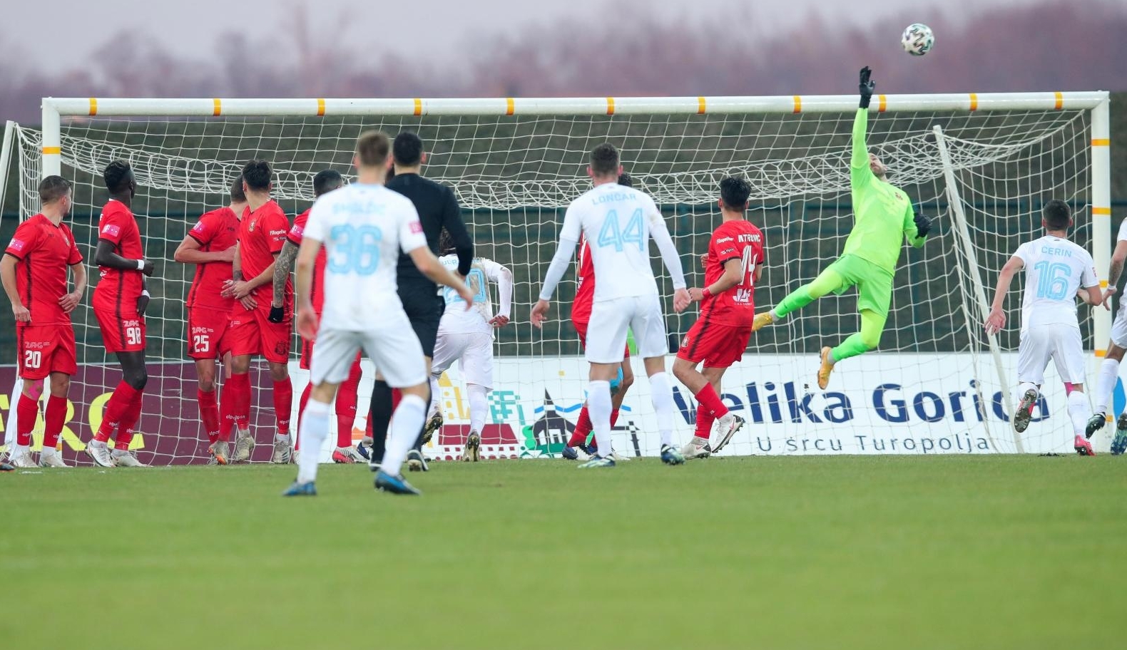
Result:
[[[454,241],[445,230],[438,240],[438,250],[443,252],[438,261],[451,271],[456,271]],[[497,284],[497,315],[492,313],[492,301],[489,299],[489,281]],[[434,431],[442,427],[438,377],[456,360],[470,400],[470,434],[465,437],[462,460],[476,463],[481,458],[481,429],[486,424],[487,398],[492,390],[494,328],[508,324],[513,305],[513,271],[491,259],[476,257],[470,274],[465,276],[465,284],[473,293],[473,309],[464,309],[461,296],[454,290],[441,290],[446,311],[438,322],[438,339],[431,364],[431,418],[427,429]]]

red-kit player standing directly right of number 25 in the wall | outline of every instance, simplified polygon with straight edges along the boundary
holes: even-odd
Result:
[[[251,160],[242,168],[242,189],[247,208],[239,224],[239,247],[234,255],[232,278],[224,284],[223,295],[236,300],[231,308],[228,330],[231,351],[231,376],[223,389],[224,408],[231,400],[230,413],[236,424],[250,418],[250,357],[263,355],[274,380],[274,416],[277,434],[274,436],[273,463],[289,463],[293,455],[290,437],[290,411],[293,407],[293,385],[290,383],[290,332],[293,331],[293,285],[286,281],[282,322],[270,322],[270,282],[274,279],[274,258],[282,252],[290,220],[282,207],[270,198],[273,172],[265,160]],[[247,279],[243,279],[247,278]],[[246,462],[255,448],[255,438],[247,428],[238,427],[234,442],[234,461]]]

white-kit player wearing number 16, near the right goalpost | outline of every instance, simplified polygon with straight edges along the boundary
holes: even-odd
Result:
[[[1076,297],[1095,305],[1102,302],[1103,294],[1092,256],[1067,239],[1072,225],[1068,206],[1063,201],[1050,201],[1042,211],[1041,225],[1045,237],[1021,244],[1002,267],[985,327],[992,335],[1005,327],[1002,302],[1013,276],[1024,268],[1018,345],[1021,401],[1013,413],[1013,429],[1020,434],[1029,426],[1030,412],[1045,383],[1045,368],[1051,360],[1068,395],[1068,417],[1075,434],[1073,446],[1077,454],[1093,456],[1092,444],[1084,437],[1090,413],[1084,397],[1084,345],[1076,321]]]

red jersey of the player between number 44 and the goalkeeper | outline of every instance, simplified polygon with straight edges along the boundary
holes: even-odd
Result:
[[[740,260],[739,284],[701,302],[701,319],[729,326],[755,320],[755,267],[763,264],[763,233],[749,221],[726,221],[712,233],[704,266],[704,286],[724,275],[726,261]]]

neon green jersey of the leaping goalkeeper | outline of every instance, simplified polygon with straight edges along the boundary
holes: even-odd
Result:
[[[869,109],[859,108],[853,121],[853,155],[850,161],[850,185],[853,189],[853,230],[845,240],[842,255],[853,255],[896,273],[903,239],[912,246],[923,246],[916,232],[912,202],[899,188],[885,182],[869,169],[869,150],[864,144]]]

